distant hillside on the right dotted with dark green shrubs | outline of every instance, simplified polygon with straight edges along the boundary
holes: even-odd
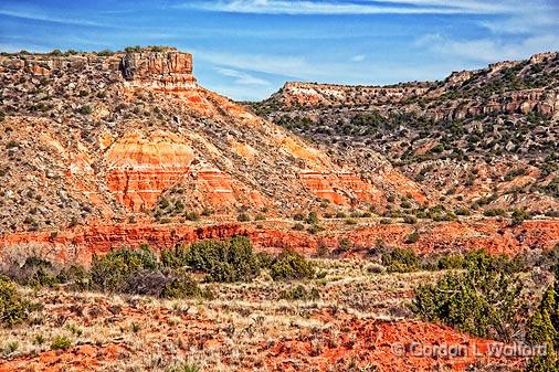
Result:
[[[386,156],[431,200],[556,215],[559,53],[393,86],[286,83],[259,115],[367,168]]]

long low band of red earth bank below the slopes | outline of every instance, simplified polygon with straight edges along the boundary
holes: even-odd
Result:
[[[348,238],[356,248],[368,248],[384,242],[388,246],[409,246],[418,253],[467,252],[486,249],[492,254],[516,255],[535,248],[550,249],[559,243],[559,221],[528,221],[510,226],[495,220],[478,222],[442,222],[418,228],[420,238],[407,244],[407,237],[416,227],[404,224],[369,225],[349,232],[329,226],[325,235],[274,228],[273,223],[264,228],[228,223],[194,227],[191,225],[94,225],[83,228],[50,232],[15,233],[0,237],[0,252],[9,247],[33,245],[43,247],[44,254],[55,252],[61,262],[89,263],[93,254],[113,248],[137,247],[149,244],[155,248],[169,248],[176,244],[188,244],[203,238],[226,238],[234,235],[247,236],[256,249],[278,253],[292,248],[314,255],[319,245],[336,248],[342,238]],[[280,224],[280,223],[278,223]],[[284,226],[287,227],[287,226]]]

